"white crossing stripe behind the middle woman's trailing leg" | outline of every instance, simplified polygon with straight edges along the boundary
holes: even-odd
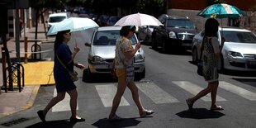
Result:
[[[116,86],[114,84],[104,84],[95,86],[104,107],[112,107],[113,98],[116,95]],[[130,106],[124,97],[121,97],[119,106]]]

